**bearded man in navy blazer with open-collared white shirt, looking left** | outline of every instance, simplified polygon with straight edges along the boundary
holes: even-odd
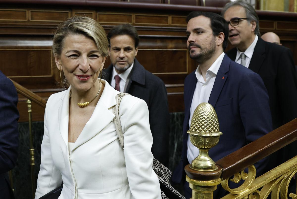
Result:
[[[184,166],[198,156],[198,149],[189,144],[189,124],[198,104],[210,103],[218,116],[223,133],[219,143],[209,150],[217,161],[260,138],[272,130],[269,98],[260,76],[230,60],[223,52],[227,46],[228,24],[216,13],[194,11],[187,16],[187,47],[190,57],[199,64],[184,82],[185,119],[181,162],[173,174],[173,182],[184,181]],[[257,174],[264,167],[257,164]],[[188,183],[184,184],[186,198],[191,197]],[[226,191],[217,186],[214,198]]]

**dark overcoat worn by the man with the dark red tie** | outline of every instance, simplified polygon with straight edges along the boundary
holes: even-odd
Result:
[[[103,76],[111,83],[113,65],[103,71]],[[143,99],[149,108],[149,122],[153,135],[151,151],[154,158],[168,166],[169,111],[167,91],[164,82],[144,67],[135,58],[126,93]]]

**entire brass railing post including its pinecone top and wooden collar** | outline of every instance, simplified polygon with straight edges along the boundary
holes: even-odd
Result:
[[[185,167],[186,180],[192,189],[192,199],[212,199],[213,192],[221,183],[222,168],[208,156],[208,150],[219,142],[219,122],[214,108],[201,103],[191,120],[190,140],[199,149],[199,156]]]

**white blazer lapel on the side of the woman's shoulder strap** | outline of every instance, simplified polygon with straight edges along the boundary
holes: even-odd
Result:
[[[108,110],[114,105],[116,105],[116,94],[118,91],[114,90],[105,80],[101,80],[105,84],[102,95],[94,109],[94,112],[83,128],[82,132],[78,136],[73,146],[75,148],[89,141],[95,135],[97,135],[101,130],[103,130],[111,121],[115,115],[112,111]]]

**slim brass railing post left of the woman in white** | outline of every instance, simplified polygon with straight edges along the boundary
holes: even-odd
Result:
[[[27,106],[28,106],[28,114],[29,114],[29,139],[30,139],[30,165],[31,165],[31,185],[32,185],[32,198],[35,198],[35,176],[34,176],[34,165],[35,165],[35,159],[34,159],[34,147],[33,147],[33,134],[32,134],[32,110],[31,110],[31,100],[27,100]]]

